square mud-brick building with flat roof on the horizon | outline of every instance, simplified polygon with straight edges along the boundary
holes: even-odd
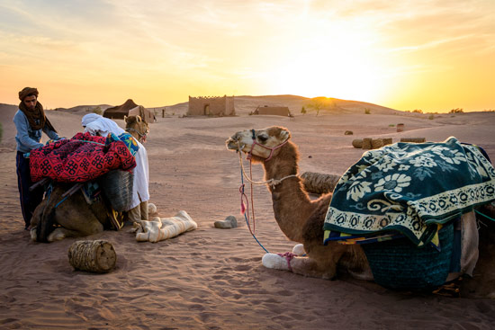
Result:
[[[234,96],[191,97],[189,96],[188,116],[234,116]]]

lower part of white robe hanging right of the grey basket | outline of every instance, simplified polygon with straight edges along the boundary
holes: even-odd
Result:
[[[136,167],[134,168],[134,180],[132,186],[132,203],[130,209],[134,209],[142,201],[149,201],[148,183],[148,153],[146,148],[138,141],[139,150],[136,153]]]

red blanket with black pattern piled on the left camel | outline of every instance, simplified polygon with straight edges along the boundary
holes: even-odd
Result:
[[[31,151],[33,182],[49,177],[57,182],[84,183],[113,169],[130,170],[136,166],[134,156],[121,141],[105,146],[105,138],[77,133]]]

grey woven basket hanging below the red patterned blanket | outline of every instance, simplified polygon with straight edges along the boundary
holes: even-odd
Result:
[[[134,174],[122,170],[112,170],[100,176],[98,183],[112,209],[118,212],[130,210]]]

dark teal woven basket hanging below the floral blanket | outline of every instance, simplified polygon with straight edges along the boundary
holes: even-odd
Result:
[[[452,223],[438,232],[441,251],[427,245],[418,247],[408,238],[362,245],[374,281],[394,290],[431,290],[443,285],[453,250]]]

